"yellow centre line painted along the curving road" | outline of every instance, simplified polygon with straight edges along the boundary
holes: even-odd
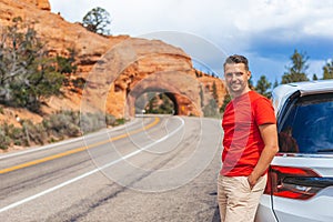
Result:
[[[56,159],[59,159],[59,158],[63,158],[63,157],[67,157],[67,155],[73,154],[73,153],[82,152],[84,150],[88,150],[88,149],[91,149],[91,148],[95,148],[95,147],[105,144],[105,143],[110,142],[110,141],[117,141],[117,140],[127,138],[127,137],[129,137],[131,134],[135,134],[135,133],[139,133],[141,131],[148,130],[148,129],[154,127],[155,124],[158,124],[159,122],[160,122],[160,118],[155,118],[155,120],[152,123],[145,125],[142,129],[138,129],[138,130],[134,130],[132,132],[129,132],[129,133],[125,133],[125,134],[121,134],[121,135],[111,138],[110,140],[104,140],[104,141],[101,141],[101,142],[88,145],[88,147],[77,148],[77,149],[69,150],[69,151],[65,151],[65,152],[62,152],[62,153],[58,153],[58,154],[54,154],[54,155],[49,155],[49,157],[46,157],[46,158],[42,158],[42,159],[38,159],[38,160],[30,161],[30,162],[26,162],[26,163],[22,163],[22,164],[19,164],[19,165],[13,165],[11,168],[6,168],[6,169],[0,170],[0,174],[8,173],[8,172],[11,172],[11,171],[16,171],[16,170],[23,169],[23,168],[28,168],[28,167],[31,167],[31,165],[37,165],[39,163],[43,163],[43,162],[47,162],[47,161],[50,161],[50,160],[56,160]]]

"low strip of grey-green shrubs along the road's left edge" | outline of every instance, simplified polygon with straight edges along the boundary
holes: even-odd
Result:
[[[123,123],[123,119],[115,119],[110,114],[60,111],[38,124],[31,120],[21,120],[21,127],[7,123],[0,125],[0,149],[48,144]]]

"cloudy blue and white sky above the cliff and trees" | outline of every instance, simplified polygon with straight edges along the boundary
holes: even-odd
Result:
[[[182,48],[202,71],[223,79],[226,56],[249,59],[255,83],[272,83],[305,54],[309,79],[333,58],[332,0],[49,0],[51,11],[82,21],[95,7],[111,16],[112,36],[162,39]]]

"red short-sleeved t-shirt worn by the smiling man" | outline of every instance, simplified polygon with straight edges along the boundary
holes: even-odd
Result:
[[[269,99],[254,91],[233,99],[226,105],[222,121],[222,175],[251,174],[264,149],[259,125],[265,123],[276,123],[274,109]]]

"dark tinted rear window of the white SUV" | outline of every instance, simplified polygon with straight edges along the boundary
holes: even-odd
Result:
[[[299,98],[282,118],[281,152],[333,153],[333,93]]]

